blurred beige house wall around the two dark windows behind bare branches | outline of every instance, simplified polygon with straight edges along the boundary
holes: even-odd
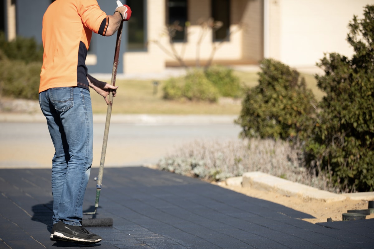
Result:
[[[230,41],[222,44],[212,43],[212,31],[204,31],[201,45],[202,29],[199,21],[207,20],[211,16],[211,0],[188,1],[188,19],[191,26],[188,28],[187,43],[175,43],[175,51],[185,61],[196,62],[208,60],[214,46],[218,46],[214,53],[215,60],[251,60],[257,62],[263,57],[263,0],[232,0]],[[126,52],[124,55],[124,72],[161,72],[166,62],[176,60],[165,53],[157,41],[168,51],[172,52],[169,39],[165,35],[165,0],[147,1],[147,52]],[[245,23],[243,28],[240,23]]]

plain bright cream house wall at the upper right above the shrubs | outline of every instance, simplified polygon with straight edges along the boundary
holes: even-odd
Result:
[[[348,23],[374,0],[269,1],[269,57],[290,66],[314,66],[324,53],[352,56]]]

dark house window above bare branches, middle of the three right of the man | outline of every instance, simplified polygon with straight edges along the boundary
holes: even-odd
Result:
[[[176,22],[182,30],[176,30],[173,41],[185,40],[185,27],[187,22],[187,0],[169,0],[168,1],[168,21],[167,24],[173,25]]]

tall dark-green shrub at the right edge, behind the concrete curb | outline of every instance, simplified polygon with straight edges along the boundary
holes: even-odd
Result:
[[[306,148],[319,170],[345,191],[374,190],[374,6],[349,23],[352,59],[331,53],[316,76],[326,96]]]

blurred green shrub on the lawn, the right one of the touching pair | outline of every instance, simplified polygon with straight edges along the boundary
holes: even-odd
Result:
[[[211,66],[205,70],[206,78],[213,83],[223,97],[237,98],[242,95],[239,77],[233,70],[223,66]]]

